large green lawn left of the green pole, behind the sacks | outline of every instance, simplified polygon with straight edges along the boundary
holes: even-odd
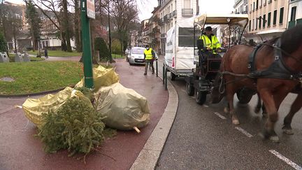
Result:
[[[0,78],[15,79],[13,82],[0,81],[0,94],[56,90],[75,85],[82,76],[82,64],[79,62],[0,63]]]

